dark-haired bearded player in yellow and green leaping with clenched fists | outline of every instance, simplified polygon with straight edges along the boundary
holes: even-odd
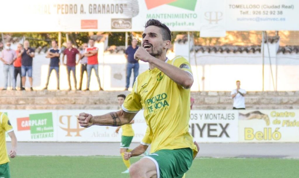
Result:
[[[140,74],[122,110],[102,116],[80,113],[81,126],[120,126],[132,121],[144,108],[144,118],[152,136],[152,154],[131,165],[132,178],[182,177],[189,170],[196,145],[189,134],[190,87],[193,75],[189,62],[181,56],[167,59],[171,32],[160,21],[145,24],[141,46],[134,59],[149,63],[149,70]]]

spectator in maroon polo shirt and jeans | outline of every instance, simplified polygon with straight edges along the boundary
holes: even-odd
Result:
[[[72,71],[73,77],[74,77],[75,90],[77,90],[76,55],[78,54],[79,59],[80,59],[81,54],[76,48],[73,48],[73,44],[71,41],[68,41],[66,43],[66,47],[67,48],[63,51],[63,55],[62,55],[62,63],[63,63],[63,65],[66,65],[66,67],[68,69],[68,86],[69,86],[68,90],[71,90],[71,80],[70,80],[71,71]],[[66,63],[64,62],[65,55],[66,55]]]

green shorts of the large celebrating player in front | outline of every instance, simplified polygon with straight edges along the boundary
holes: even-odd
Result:
[[[181,178],[191,167],[193,151],[190,148],[159,150],[144,158],[155,163],[157,178]]]

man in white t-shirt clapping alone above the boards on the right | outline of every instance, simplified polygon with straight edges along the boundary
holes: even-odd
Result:
[[[231,91],[231,97],[234,99],[233,109],[245,109],[245,94],[246,91],[240,88],[241,82],[237,80],[237,89]]]

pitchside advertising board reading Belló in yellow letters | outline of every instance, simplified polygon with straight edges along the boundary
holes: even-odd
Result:
[[[299,110],[239,111],[239,142],[299,142]]]

